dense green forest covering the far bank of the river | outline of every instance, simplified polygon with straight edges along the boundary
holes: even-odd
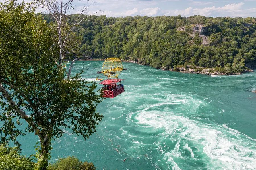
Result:
[[[44,19],[53,21],[46,14]],[[243,72],[256,65],[256,18],[102,15],[90,20],[75,29],[81,39],[81,56],[118,57],[155,68],[216,68],[224,73]],[[207,44],[202,44],[198,32],[190,36],[195,24],[203,25],[201,35],[208,38]],[[185,31],[177,30],[181,27]]]

